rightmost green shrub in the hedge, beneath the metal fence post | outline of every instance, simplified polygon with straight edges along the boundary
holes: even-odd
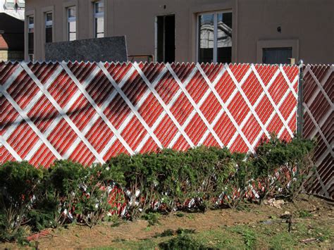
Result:
[[[264,186],[259,189],[261,201],[268,195],[293,200],[299,194],[314,169],[314,146],[313,141],[300,137],[294,137],[291,142],[272,137],[256,149],[252,159],[253,176]]]

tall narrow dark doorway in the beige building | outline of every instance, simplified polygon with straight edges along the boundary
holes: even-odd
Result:
[[[175,61],[175,15],[157,17],[157,53],[159,63]]]

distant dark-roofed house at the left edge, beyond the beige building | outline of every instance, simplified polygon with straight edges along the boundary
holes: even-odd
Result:
[[[24,7],[22,0],[0,0],[0,61],[24,60]]]

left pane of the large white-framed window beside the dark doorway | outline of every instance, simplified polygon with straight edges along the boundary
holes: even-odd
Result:
[[[199,63],[214,60],[214,14],[199,15]]]

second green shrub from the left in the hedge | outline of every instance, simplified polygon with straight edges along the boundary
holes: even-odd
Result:
[[[49,185],[58,204],[57,222],[83,223],[92,227],[111,210],[109,190],[112,178],[101,165],[89,168],[71,161],[56,161],[51,166]]]

